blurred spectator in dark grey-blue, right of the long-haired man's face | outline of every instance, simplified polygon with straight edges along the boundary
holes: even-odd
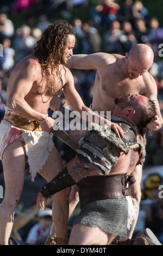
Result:
[[[84,23],[82,25],[82,31],[84,33],[83,38],[83,53],[91,54],[95,52],[101,52],[102,39],[97,29]]]

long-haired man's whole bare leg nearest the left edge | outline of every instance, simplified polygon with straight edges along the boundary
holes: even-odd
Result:
[[[0,243],[8,245],[14,222],[14,211],[24,184],[26,156],[24,143],[15,141],[3,153],[5,196],[0,206]]]

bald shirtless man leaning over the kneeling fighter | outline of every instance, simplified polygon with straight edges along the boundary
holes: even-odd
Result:
[[[148,70],[153,64],[152,48],[145,44],[137,44],[125,56],[119,54],[93,53],[71,56],[67,68],[96,70],[95,84],[91,108],[94,111],[111,111],[115,109],[114,99],[117,96],[126,97],[129,93],[140,94],[155,100],[156,115],[147,125],[150,130],[160,129],[162,116],[157,100],[157,87],[154,78]],[[136,179],[131,196],[140,202],[142,167],[134,170]],[[137,211],[137,216],[139,211]],[[136,224],[136,221],[135,221]],[[135,227],[133,224],[133,230]]]

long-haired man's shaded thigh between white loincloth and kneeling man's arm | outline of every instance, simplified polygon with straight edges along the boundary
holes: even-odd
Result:
[[[57,148],[53,148],[51,153],[49,154],[48,160],[40,170],[39,174],[45,178],[48,182],[51,181],[62,169],[64,165],[62,163],[61,156],[57,150]]]

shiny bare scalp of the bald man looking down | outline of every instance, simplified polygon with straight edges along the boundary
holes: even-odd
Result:
[[[153,63],[154,53],[148,45],[137,44],[129,51],[129,58],[142,65],[143,69],[149,69]]]

